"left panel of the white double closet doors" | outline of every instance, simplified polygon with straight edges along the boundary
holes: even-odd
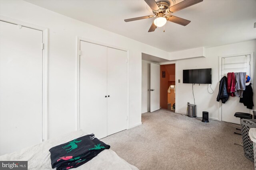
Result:
[[[100,139],[107,136],[107,47],[80,41],[80,50],[80,129]]]

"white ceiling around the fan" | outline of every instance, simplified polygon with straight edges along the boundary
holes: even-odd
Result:
[[[204,0],[173,13],[190,20],[187,26],[167,22],[148,33],[154,18],[144,0],[26,0],[32,4],[162,49],[180,51],[256,39],[256,0]],[[176,0],[176,4],[182,0]]]

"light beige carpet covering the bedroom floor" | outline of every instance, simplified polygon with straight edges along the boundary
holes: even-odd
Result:
[[[235,126],[160,109],[142,114],[142,125],[102,141],[140,170],[253,170]]]

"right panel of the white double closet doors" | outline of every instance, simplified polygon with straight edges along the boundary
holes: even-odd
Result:
[[[108,135],[126,129],[127,52],[108,48]]]

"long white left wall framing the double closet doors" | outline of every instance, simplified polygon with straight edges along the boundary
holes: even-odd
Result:
[[[25,1],[0,1],[0,15],[48,28],[48,134],[76,130],[76,37],[130,50],[129,126],[141,123],[141,53],[169,59],[167,52]]]

